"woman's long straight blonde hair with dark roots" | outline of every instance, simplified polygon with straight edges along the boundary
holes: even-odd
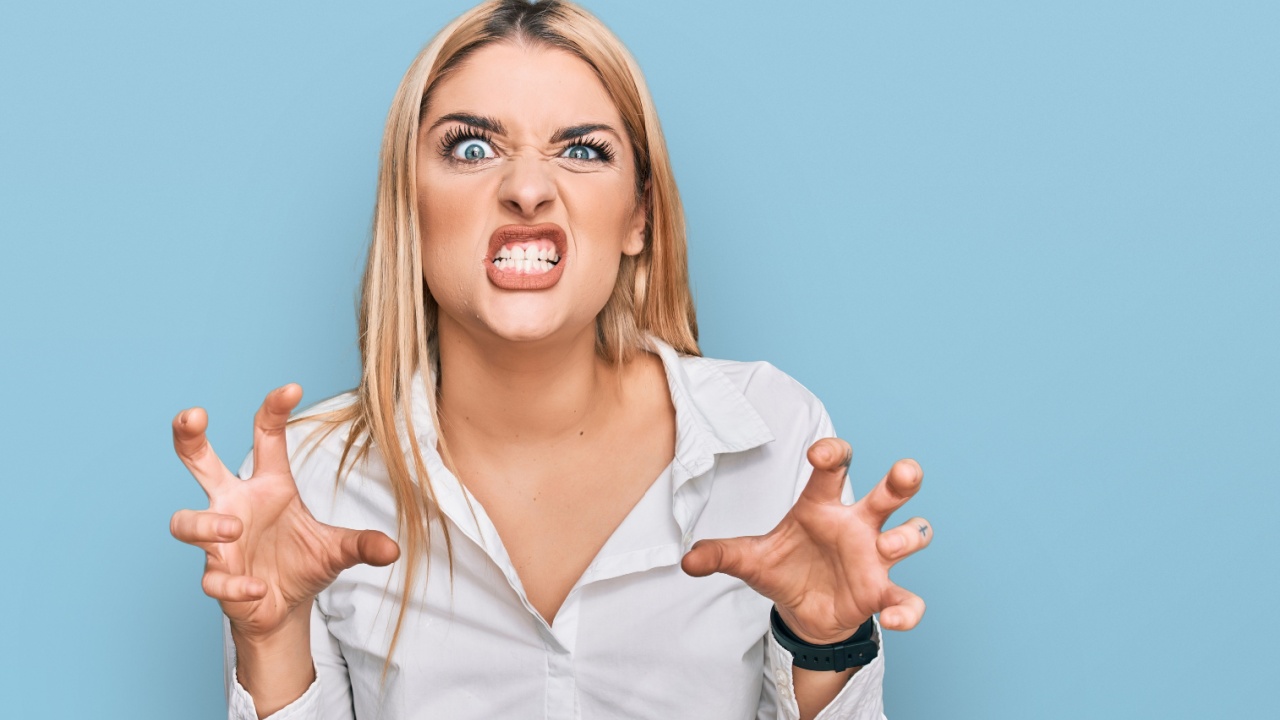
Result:
[[[684,208],[658,114],[635,59],[604,23],[563,0],[490,0],[456,18],[413,59],[387,118],[372,242],[360,300],[362,374],[355,402],[310,418],[321,420],[320,429],[328,432],[351,423],[338,465],[339,479],[348,460],[353,465],[371,446],[379,448],[396,498],[406,596],[412,592],[419,559],[425,555],[430,562],[433,519],[440,520],[453,577],[453,542],[435,503],[410,397],[415,377],[424,373],[430,419],[439,434],[436,306],[422,279],[419,242],[415,183],[419,129],[434,88],[472,53],[503,41],[562,49],[591,65],[631,140],[636,199],[648,201],[645,245],[639,255],[622,258],[613,293],[596,318],[596,352],[613,363],[625,363],[644,346],[645,334],[653,334],[677,351],[699,354]],[[357,439],[366,434],[370,442],[352,455]],[[396,652],[407,607],[408,602],[401,603],[387,666]]]

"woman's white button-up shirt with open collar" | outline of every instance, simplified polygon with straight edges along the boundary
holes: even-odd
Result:
[[[444,536],[433,523],[429,570],[419,575],[426,575],[425,591],[419,584],[412,593],[380,685],[402,574],[396,565],[343,571],[312,609],[316,680],[271,717],[799,719],[791,653],[769,632],[772,602],[730,575],[691,578],[680,560],[701,538],[773,529],[809,479],[805,451],[835,434],[831,419],[813,393],[768,363],[682,356],[657,340],[653,348],[676,409],[675,459],[605,541],[553,624],[525,596],[484,507],[444,468],[420,380],[412,411],[451,524],[452,597]],[[315,410],[351,401],[347,393]],[[303,446],[314,428],[296,423],[288,430],[306,506],[323,523],[397,537],[380,456],[371,452],[335,491],[346,432]],[[253,701],[236,682],[229,632],[225,638],[229,717],[255,720]],[[882,651],[818,717],[882,720],[883,673]]]

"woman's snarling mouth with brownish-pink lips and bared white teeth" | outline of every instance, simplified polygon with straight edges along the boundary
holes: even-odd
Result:
[[[544,290],[564,274],[568,245],[556,223],[503,225],[489,238],[485,272],[503,290]]]

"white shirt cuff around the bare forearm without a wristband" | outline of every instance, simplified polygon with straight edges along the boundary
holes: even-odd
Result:
[[[228,720],[257,720],[253,697],[236,678],[236,643],[232,641],[230,623],[223,618],[223,648],[227,680]],[[311,659],[316,679],[302,697],[270,715],[271,720],[355,720],[351,678],[337,638],[325,625],[324,614],[311,605]]]

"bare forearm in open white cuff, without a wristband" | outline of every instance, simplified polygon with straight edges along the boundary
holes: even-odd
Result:
[[[311,660],[311,603],[306,602],[266,637],[246,637],[232,628],[236,678],[253,698],[259,717],[268,717],[315,682]]]

